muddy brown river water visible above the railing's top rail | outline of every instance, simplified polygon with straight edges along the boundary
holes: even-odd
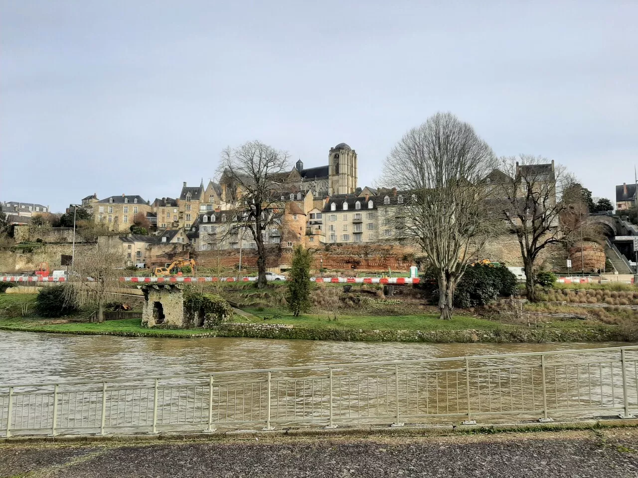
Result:
[[[0,331],[0,383],[540,352],[623,343],[418,344],[253,338],[128,338]]]

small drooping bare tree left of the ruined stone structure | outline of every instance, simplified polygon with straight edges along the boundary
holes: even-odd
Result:
[[[119,291],[119,270],[122,252],[110,243],[99,243],[90,252],[75,257],[73,272],[64,294],[69,303],[77,307],[94,305],[98,308],[97,320],[104,321],[104,304]]]

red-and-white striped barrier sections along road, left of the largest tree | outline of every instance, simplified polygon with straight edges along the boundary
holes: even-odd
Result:
[[[119,277],[120,282],[238,282],[235,277]],[[64,282],[64,277],[39,277],[37,275],[3,275],[0,282]],[[256,277],[242,277],[239,282],[253,282]],[[408,286],[419,284],[419,277],[311,277],[313,282],[331,284],[392,284]]]

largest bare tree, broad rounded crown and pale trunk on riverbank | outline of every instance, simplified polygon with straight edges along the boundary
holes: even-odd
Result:
[[[493,232],[484,177],[491,148],[451,113],[436,113],[404,134],[385,163],[385,180],[404,192],[397,235],[417,243],[438,277],[441,319],[452,318],[454,290]]]

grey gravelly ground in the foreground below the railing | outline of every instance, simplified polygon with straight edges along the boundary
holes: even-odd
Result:
[[[3,477],[638,477],[638,430],[0,445]]]

